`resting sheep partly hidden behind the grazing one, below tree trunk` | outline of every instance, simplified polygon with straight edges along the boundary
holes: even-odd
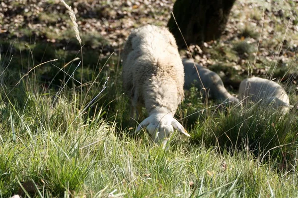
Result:
[[[197,87],[199,90],[206,88],[206,92],[202,92],[204,100],[206,98],[205,94],[209,93],[210,99],[215,99],[219,102],[224,102],[227,104],[230,102],[239,102],[239,100],[236,97],[233,97],[226,91],[226,89],[224,88],[224,83],[217,73],[195,63],[191,59],[184,58],[182,62],[185,73],[185,89],[190,89],[193,85]],[[198,76],[198,73],[200,75],[200,78]],[[202,83],[204,86],[202,85]]]

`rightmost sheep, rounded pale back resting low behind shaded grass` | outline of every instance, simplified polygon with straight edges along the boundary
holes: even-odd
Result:
[[[283,113],[287,112],[290,105],[286,91],[276,82],[267,79],[252,77],[243,80],[239,86],[239,98],[244,102],[251,100],[265,105],[272,104],[280,107]]]

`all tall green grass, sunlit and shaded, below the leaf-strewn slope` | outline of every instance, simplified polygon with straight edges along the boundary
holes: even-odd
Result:
[[[75,85],[45,91],[31,73],[13,88],[23,74],[1,76],[0,197],[27,181],[36,197],[297,195],[295,112],[281,117],[252,105],[224,113],[213,102],[198,111],[206,105],[192,89],[177,113],[192,138],[177,134],[162,149],[146,133],[129,135],[136,123],[120,72],[111,74],[101,94],[104,74],[84,85],[82,102]]]

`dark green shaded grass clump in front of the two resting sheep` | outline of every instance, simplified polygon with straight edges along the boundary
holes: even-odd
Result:
[[[297,115],[282,115],[272,106],[248,104],[231,108],[226,114],[219,113],[203,126],[205,144],[219,146],[233,153],[250,150],[260,160],[273,158],[276,166],[293,168],[297,147]],[[212,130],[210,130],[212,129]],[[203,138],[200,132],[197,139]]]

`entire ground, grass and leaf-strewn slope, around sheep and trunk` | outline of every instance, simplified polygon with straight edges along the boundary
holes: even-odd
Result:
[[[166,26],[174,1],[66,3],[81,43],[59,0],[1,4],[0,198],[298,197],[298,1],[238,0],[220,41],[180,51],[233,94],[273,79],[295,108],[223,108],[193,87],[176,112],[191,138],[168,149],[132,135],[120,56],[132,28]]]

